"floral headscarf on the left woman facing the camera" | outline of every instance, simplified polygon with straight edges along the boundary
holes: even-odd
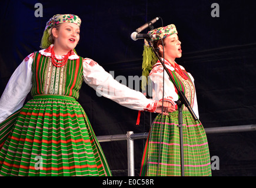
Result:
[[[48,48],[51,45],[49,36],[51,34],[52,26],[64,23],[74,23],[79,27],[81,25],[81,19],[77,15],[73,14],[56,14],[46,23],[44,35],[42,36],[41,48]]]

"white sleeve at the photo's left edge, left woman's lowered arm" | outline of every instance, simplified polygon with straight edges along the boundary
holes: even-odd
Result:
[[[26,96],[32,88],[33,56],[33,53],[27,56],[9,79],[0,98],[0,122],[24,105]]]

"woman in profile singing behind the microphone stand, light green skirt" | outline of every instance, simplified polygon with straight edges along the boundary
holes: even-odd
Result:
[[[195,115],[199,117],[194,78],[175,62],[175,58],[180,58],[182,52],[175,25],[153,29],[148,33],[155,36],[152,38],[152,45],[158,50],[172,78],[179,89],[185,93]],[[164,98],[174,103],[176,110],[162,117],[158,115],[152,123],[142,157],[141,176],[181,176],[178,108],[175,104],[179,98],[177,89],[147,41],[145,41],[143,56],[142,66],[145,71],[142,74],[147,76],[148,67],[152,69],[149,77],[152,80],[153,99],[161,99],[164,90]],[[185,176],[211,176],[211,160],[204,127],[199,120],[194,120],[184,105],[182,114],[184,174]]]

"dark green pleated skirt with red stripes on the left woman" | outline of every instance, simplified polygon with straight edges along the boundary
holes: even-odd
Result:
[[[39,95],[0,124],[0,176],[111,176],[81,105]]]

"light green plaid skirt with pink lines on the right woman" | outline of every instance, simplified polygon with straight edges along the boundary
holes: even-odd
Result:
[[[211,176],[211,160],[204,127],[200,121],[195,122],[188,111],[182,114],[184,174]],[[181,176],[178,111],[168,116],[163,115],[162,119],[159,114],[152,123],[142,156],[141,176]]]

